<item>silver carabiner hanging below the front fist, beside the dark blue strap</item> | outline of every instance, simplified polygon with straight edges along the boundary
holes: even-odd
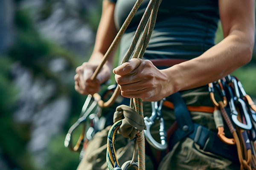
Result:
[[[153,147],[155,147],[156,149],[159,149],[159,150],[166,150],[166,148],[167,148],[166,130],[165,130],[165,126],[164,126],[163,115],[161,112],[164,100],[165,99],[160,100],[159,106],[158,106],[157,102],[151,102],[152,114],[149,118],[148,117],[144,118],[144,122],[147,127],[147,129],[144,130],[145,137],[149,144],[151,144]],[[152,135],[150,133],[150,127],[151,127],[151,125],[154,124],[155,120],[160,120],[159,133],[160,133],[161,143],[157,142],[152,137]]]

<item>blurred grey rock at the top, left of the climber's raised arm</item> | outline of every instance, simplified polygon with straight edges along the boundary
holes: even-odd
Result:
[[[92,0],[23,0],[21,3],[23,9],[30,9],[43,37],[79,56],[86,55],[94,43],[95,35],[86,20],[95,5]]]

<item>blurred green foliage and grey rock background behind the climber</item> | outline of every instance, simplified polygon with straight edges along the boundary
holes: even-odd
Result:
[[[75,170],[64,147],[86,96],[75,69],[93,49],[102,0],[0,0],[0,170]],[[222,40],[221,26],[216,43]],[[256,53],[233,73],[256,98]],[[79,133],[75,134],[76,136]]]

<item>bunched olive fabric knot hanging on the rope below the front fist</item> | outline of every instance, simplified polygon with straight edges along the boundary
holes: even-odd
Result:
[[[119,127],[119,133],[129,139],[134,139],[137,131],[146,129],[146,125],[142,116],[133,108],[127,105],[120,105],[114,113],[114,123],[122,120],[122,125]]]

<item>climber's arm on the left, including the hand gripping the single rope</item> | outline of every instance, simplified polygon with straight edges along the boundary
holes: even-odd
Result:
[[[93,53],[88,62],[84,62],[81,66],[76,68],[76,75],[74,77],[75,89],[80,94],[94,94],[98,92],[100,84],[107,81],[111,76],[114,52],[111,54],[108,61],[96,77],[96,81],[90,80],[93,72],[102,61],[104,54],[107,52],[117,34],[113,17],[114,8],[115,3],[103,0],[102,16],[96,34]]]

